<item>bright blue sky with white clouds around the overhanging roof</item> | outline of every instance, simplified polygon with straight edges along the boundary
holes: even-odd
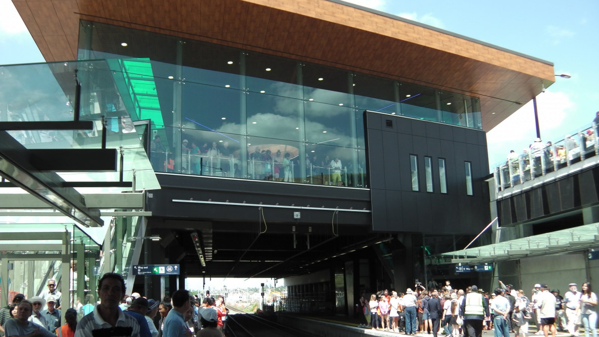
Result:
[[[353,0],[364,7],[446,29],[486,43],[544,59],[571,79],[537,97],[543,141],[589,124],[599,111],[599,1],[400,1]],[[0,0],[0,64],[43,62],[10,0]],[[488,131],[489,164],[521,152],[536,137],[532,104]]]

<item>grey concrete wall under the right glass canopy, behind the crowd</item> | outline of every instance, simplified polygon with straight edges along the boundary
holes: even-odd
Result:
[[[546,283],[551,289],[559,289],[563,296],[568,284],[582,285],[586,281],[586,253],[544,255],[522,258],[520,260],[521,288],[530,295],[536,283]],[[599,263],[595,263],[595,273],[599,272]],[[516,284],[514,284],[516,285]]]

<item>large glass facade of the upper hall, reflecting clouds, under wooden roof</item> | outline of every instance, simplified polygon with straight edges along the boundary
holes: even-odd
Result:
[[[103,23],[80,29],[78,58],[107,59],[132,118],[152,121],[155,171],[367,188],[364,110],[482,128],[478,100],[462,94]]]

